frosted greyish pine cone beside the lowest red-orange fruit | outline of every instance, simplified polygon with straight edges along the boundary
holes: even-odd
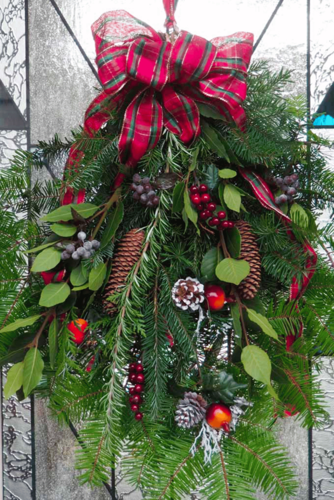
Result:
[[[207,402],[197,392],[185,392],[176,405],[175,421],[179,427],[189,429],[203,420]]]

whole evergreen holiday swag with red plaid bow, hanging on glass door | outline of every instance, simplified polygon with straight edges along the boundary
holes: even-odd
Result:
[[[166,34],[102,15],[84,127],[1,171],[5,395],[80,422],[83,482],[121,465],[152,500],[291,498],[275,421],[321,425],[334,350],[330,143],[288,72],[249,66],[250,33],[179,31],[175,4]]]

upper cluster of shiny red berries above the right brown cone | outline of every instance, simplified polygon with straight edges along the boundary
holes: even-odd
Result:
[[[211,201],[211,196],[208,193],[208,186],[206,184],[201,184],[200,186],[193,184],[189,191],[190,199],[199,211],[199,218],[202,220],[209,219],[208,224],[211,227],[216,226],[220,231],[234,226],[234,222],[231,220],[223,220],[226,217],[226,212],[223,210],[214,213],[217,205]]]

